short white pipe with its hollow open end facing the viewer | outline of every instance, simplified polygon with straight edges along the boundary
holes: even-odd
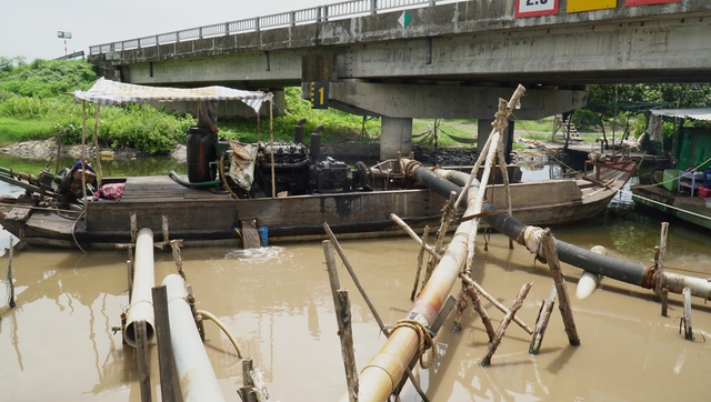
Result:
[[[136,348],[134,325],[138,321],[146,321],[146,338],[150,343],[153,339],[153,297],[151,289],[156,285],[153,272],[153,231],[143,228],[136,239],[136,259],[133,267],[133,291],[131,305],[126,318],[123,339],[130,346]]]

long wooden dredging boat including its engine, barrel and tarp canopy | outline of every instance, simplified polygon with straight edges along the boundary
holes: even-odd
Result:
[[[74,92],[74,98],[99,104],[236,100],[256,112],[262,103],[271,105],[272,99],[271,93],[223,87],[149,88],[103,79],[87,92]],[[163,242],[182,239],[209,245],[234,243],[238,229],[249,232],[253,244],[253,234],[263,228],[263,238],[324,238],[323,222],[336,233],[353,237],[402,233],[390,219],[392,213],[413,228],[439,222],[449,193],[441,197],[413,179],[421,163],[398,155],[368,169],[361,162],[350,168],[331,158],[320,160],[319,130],[320,125],[307,148],[303,129],[294,130],[293,142],[274,143],[272,137],[270,142],[242,144],[219,140],[209,129],[191,128],[188,180],[173,172],[170,178],[101,178],[100,158],[98,177],[84,162],[57,174],[44,169],[37,178],[0,169],[0,180],[27,190],[4,200],[0,224],[27,244],[111,248],[131,242],[141,228],[151,229]],[[591,218],[632,171],[631,162],[594,163],[591,174],[585,172],[580,180],[513,184],[513,215],[541,225]],[[99,195],[90,199],[86,183],[94,179]],[[501,188],[493,185],[491,191],[491,203],[505,207]]]

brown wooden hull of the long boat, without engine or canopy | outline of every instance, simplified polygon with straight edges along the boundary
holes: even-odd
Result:
[[[123,185],[120,200],[99,198],[83,209],[81,203],[62,205],[48,197],[50,190],[26,185],[26,194],[3,200],[0,224],[29,245],[82,249],[129,243],[137,228],[150,228],[157,241],[164,240],[163,217],[168,238],[191,245],[239,244],[239,229],[250,225],[264,228],[269,242],[326,239],[323,222],[342,237],[397,235],[402,230],[390,220],[391,213],[413,228],[435,227],[441,217],[444,197],[415,183],[409,173],[419,167],[409,159],[390,160],[368,169],[367,184],[356,189],[246,199],[234,199],[217,185],[186,187],[169,177],[110,178],[103,183]],[[593,174],[577,179],[513,183],[513,217],[537,225],[592,218],[624,185],[633,167],[632,162],[602,163]],[[362,180],[359,167],[351,172],[354,180]],[[505,208],[502,184],[491,185],[487,197]]]

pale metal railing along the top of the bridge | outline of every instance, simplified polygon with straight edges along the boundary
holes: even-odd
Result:
[[[258,32],[262,29],[294,27],[318,23],[356,16],[375,14],[379,11],[392,11],[413,7],[434,7],[435,3],[452,3],[469,0],[350,0],[339,3],[312,7],[277,14],[254,17],[239,21],[229,21],[211,26],[189,28],[176,32],[159,33],[150,37],[122,40],[119,42],[89,47],[89,54],[106,53],[129,49],[140,49],[166,43],[176,43],[210,37],[228,36],[241,32]]]

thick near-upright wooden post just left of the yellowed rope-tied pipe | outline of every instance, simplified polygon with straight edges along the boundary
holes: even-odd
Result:
[[[353,353],[353,331],[351,328],[351,304],[348,299],[348,291],[341,289],[338,270],[336,267],[336,255],[330,240],[324,240],[323,255],[326,267],[329,271],[329,283],[331,284],[331,295],[336,308],[336,321],[338,323],[338,335],[341,340],[341,355],[346,369],[346,382],[350,402],[358,401],[358,369],[356,368],[356,354]]]

